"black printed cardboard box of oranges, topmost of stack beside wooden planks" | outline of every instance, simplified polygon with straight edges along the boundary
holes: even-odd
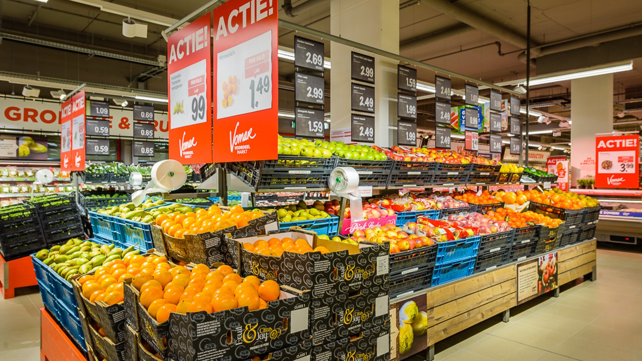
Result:
[[[301,238],[312,249],[322,246],[330,252],[283,252],[281,257],[277,257],[249,252],[243,247],[243,243],[268,241],[270,238],[282,240],[286,237],[292,240]],[[233,260],[240,260],[238,268],[244,272],[242,276],[274,279],[279,285],[310,290],[313,298],[347,294],[372,286],[383,287],[390,279],[388,243],[361,242],[351,245],[324,240],[314,232],[295,227],[258,236],[235,237],[226,234],[225,243]]]

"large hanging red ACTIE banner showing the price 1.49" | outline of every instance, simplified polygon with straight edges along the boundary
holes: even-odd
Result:
[[[278,1],[214,9],[213,161],[277,158]]]

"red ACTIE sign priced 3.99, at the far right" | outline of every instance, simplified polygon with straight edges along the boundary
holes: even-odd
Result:
[[[596,188],[639,187],[639,135],[595,138]]]

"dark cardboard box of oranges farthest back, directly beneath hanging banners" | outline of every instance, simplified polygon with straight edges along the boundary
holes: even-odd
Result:
[[[222,207],[221,209],[225,209]],[[279,229],[277,213],[263,211],[264,216],[250,220],[245,227],[235,226],[221,229],[220,231],[200,234],[185,234],[185,238],[176,238],[163,233],[159,225],[152,224],[152,239],[154,247],[164,252],[169,258],[187,263],[203,263],[211,265],[216,262],[232,264],[223,236],[226,233],[237,236],[247,234],[265,234]]]

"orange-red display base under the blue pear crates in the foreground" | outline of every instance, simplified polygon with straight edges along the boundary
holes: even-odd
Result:
[[[87,361],[44,307],[40,308],[40,361]]]

